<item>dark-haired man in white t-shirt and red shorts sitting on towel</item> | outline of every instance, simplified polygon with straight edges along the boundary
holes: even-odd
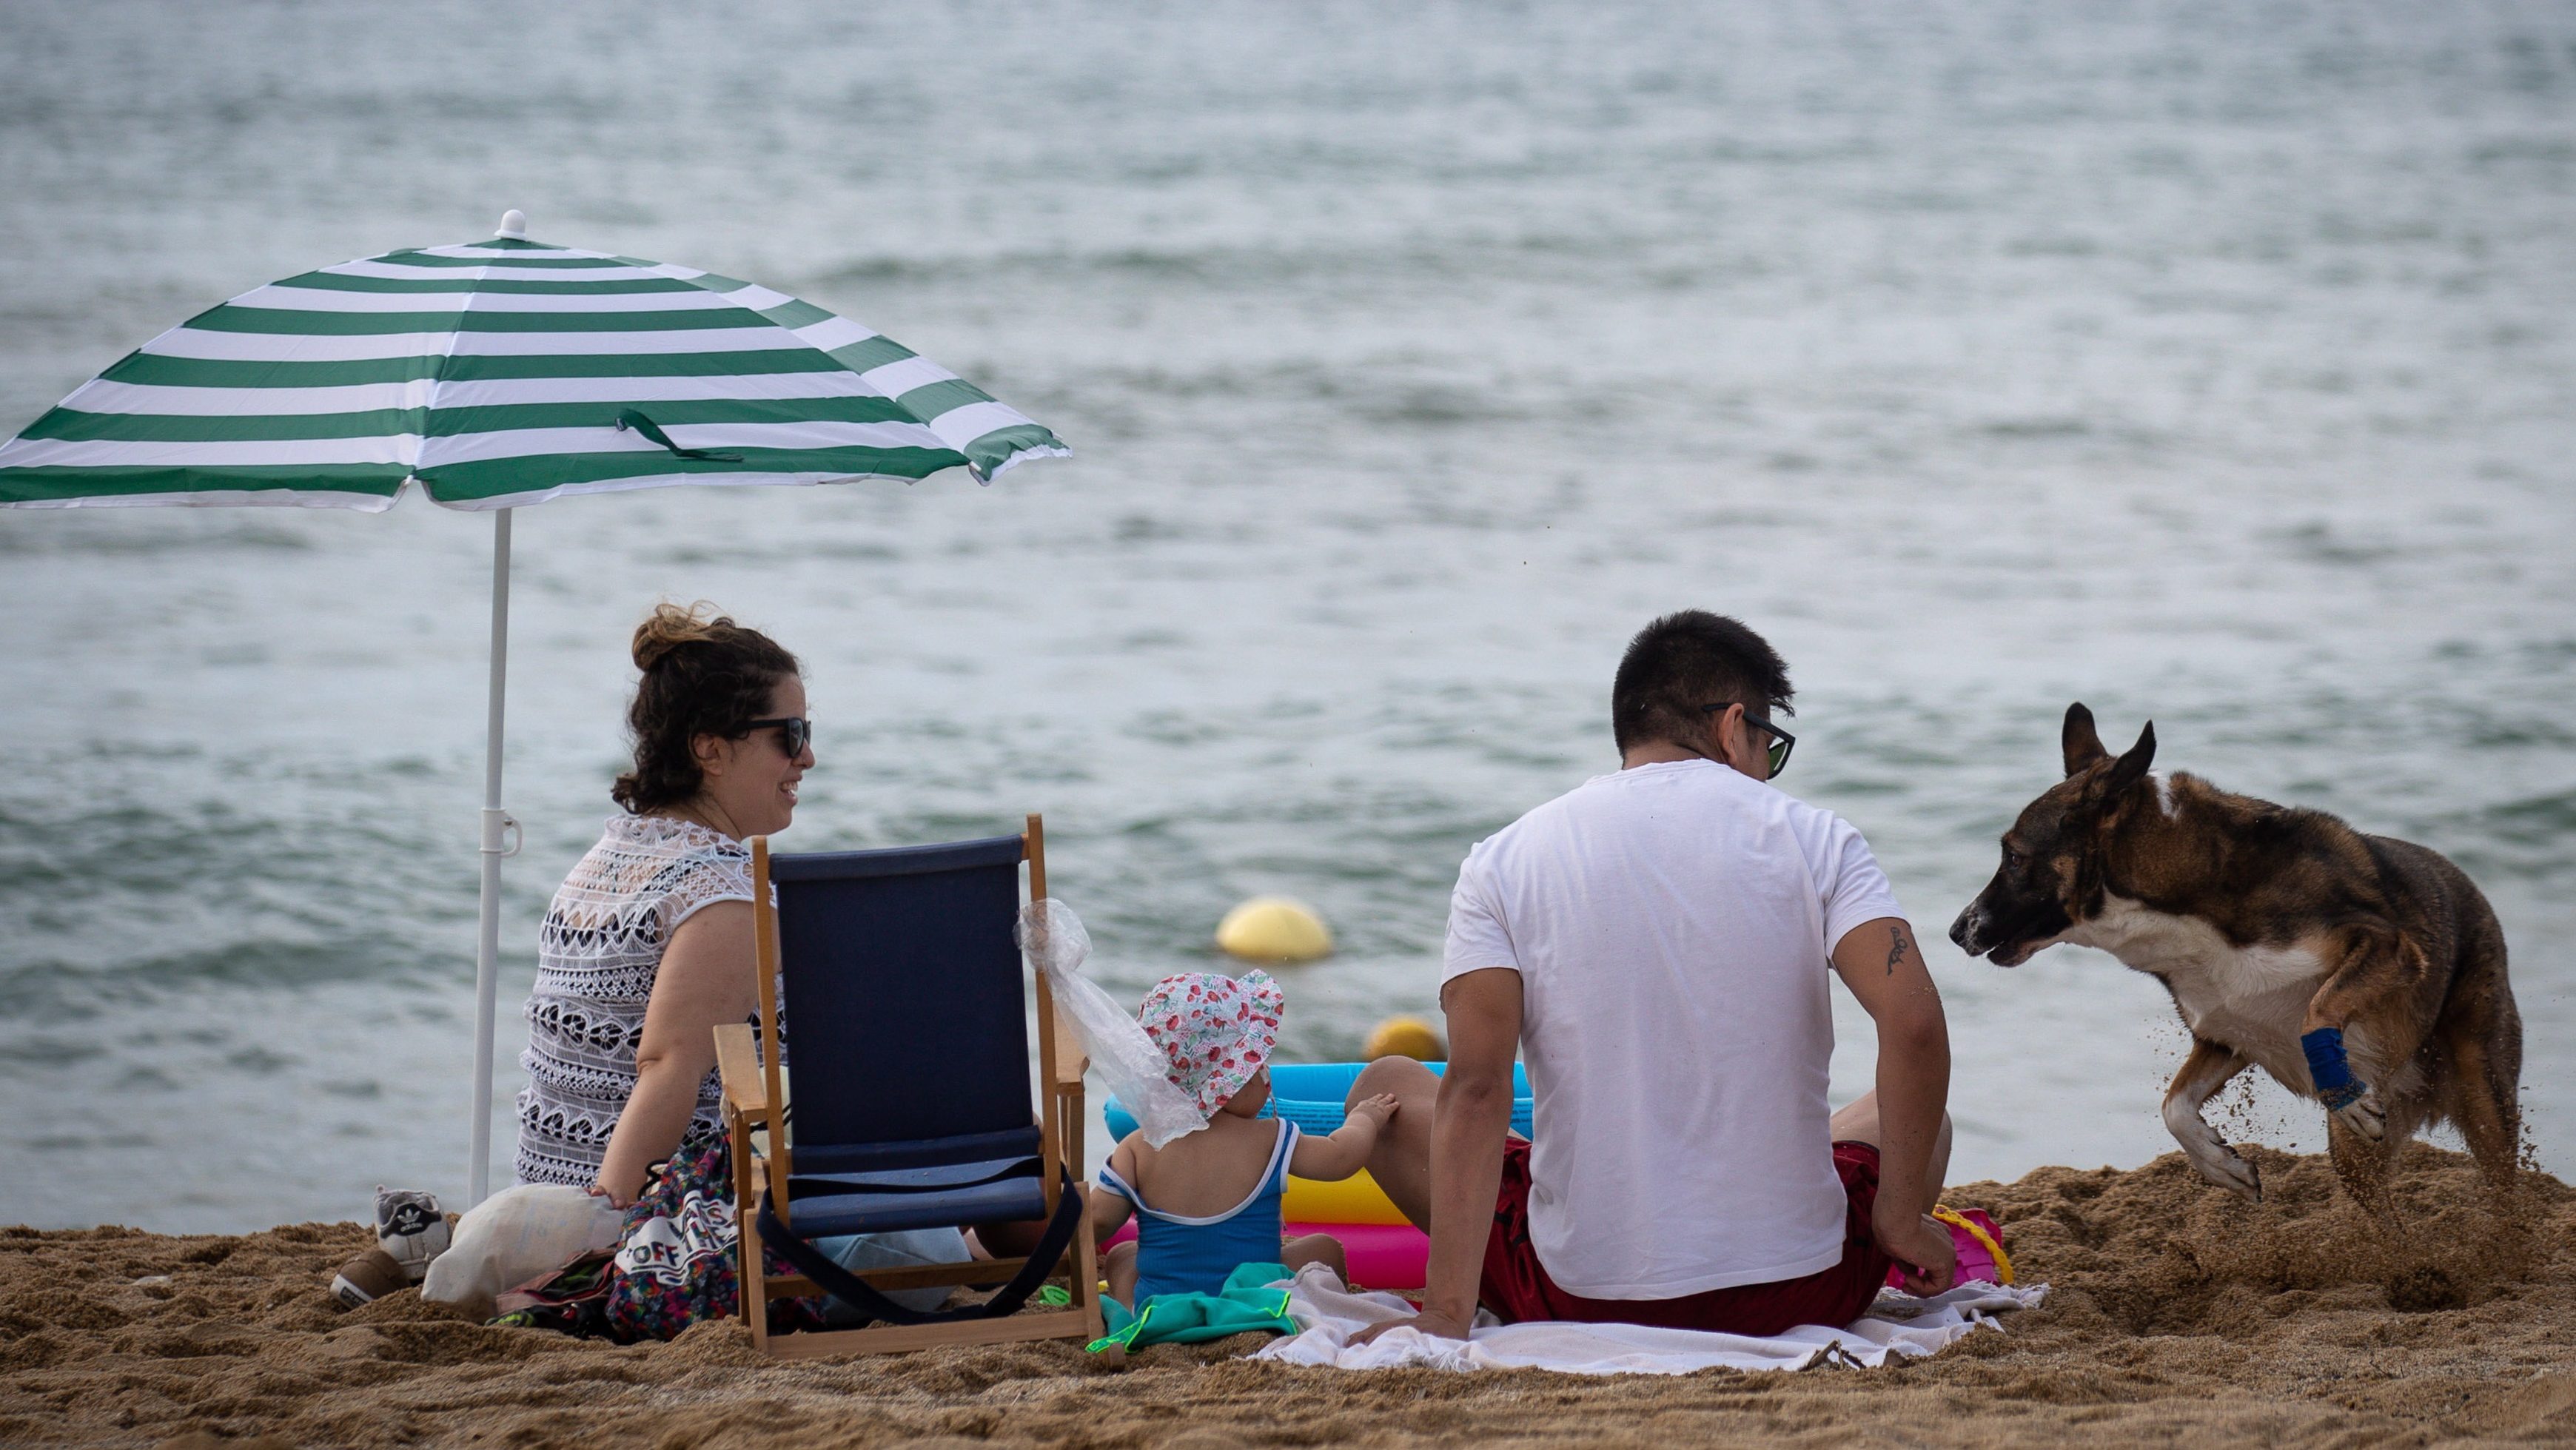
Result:
[[[1468,852],[1448,1074],[1381,1059],[1352,1087],[1401,1100],[1368,1167],[1432,1236],[1399,1324],[1466,1337],[1484,1303],[1777,1334],[1850,1324],[1891,1262],[1950,1288],[1940,992],[1860,832],[1770,786],[1788,701],[1744,623],[1659,618],[1610,693],[1620,770]],[[1878,1087],[1839,1113],[1829,971],[1878,1022]],[[1533,1141],[1510,1133],[1515,1053]]]

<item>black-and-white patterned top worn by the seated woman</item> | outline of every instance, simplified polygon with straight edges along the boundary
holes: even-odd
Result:
[[[644,1007],[680,922],[752,899],[752,852],[667,816],[608,816],[536,935],[528,1089],[518,1095],[518,1180],[587,1185],[636,1089]],[[716,1074],[698,1084],[690,1133],[719,1131]],[[677,1144],[672,1144],[677,1146]]]

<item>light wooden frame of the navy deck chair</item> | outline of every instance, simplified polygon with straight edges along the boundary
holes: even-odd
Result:
[[[786,1102],[778,1074],[778,909],[770,904],[770,840],[752,837],[752,930],[760,961],[760,1048],[755,1056],[750,1022],[724,1022],[716,1028],[716,1074],[724,1084],[724,1131],[734,1149],[734,1221],[739,1226],[737,1254],[742,1270],[744,1321],[752,1344],[762,1352],[811,1360],[822,1355],[884,1355],[896,1350],[927,1350],[933,1344],[1007,1344],[1018,1339],[1100,1339],[1100,1254],[1092,1247],[1092,1229],[1074,1229],[1074,1244],[1064,1254],[1072,1277],[1072,1308],[1023,1308],[1005,1319],[966,1319],[956,1324],[878,1324],[871,1329],[827,1329],[806,1334],[770,1334],[768,1303],[822,1293],[804,1275],[770,1277],[762,1272],[760,1252],[760,1187],[770,1190],[770,1203],[781,1221],[788,1218],[788,1154],[791,1136],[781,1131],[773,1102]],[[1020,858],[1028,860],[1028,899],[1046,899],[1046,827],[1028,816],[1020,837]],[[1056,997],[1038,976],[1038,1136],[1046,1159],[1046,1210],[1054,1213],[1064,1180],[1074,1180],[1074,1192],[1090,1208],[1092,1185],[1082,1177],[1082,1038],[1056,1015]],[[765,1141],[755,1144],[752,1133]],[[1028,1259],[971,1259],[963,1265],[914,1265],[902,1270],[863,1270],[858,1277],[868,1288],[938,1288],[963,1283],[994,1283],[1015,1275]]]

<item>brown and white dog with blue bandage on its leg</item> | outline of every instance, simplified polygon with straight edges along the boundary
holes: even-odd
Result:
[[[2063,747],[2066,780],[2022,809],[1994,881],[1950,925],[1960,950],[2020,966],[2076,943],[2164,981],[2192,1033],[2164,1125],[2202,1177],[2254,1203],[2254,1164],[2200,1115],[2249,1064],[2329,1105],[2336,1177],[2375,1210],[2396,1149],[2437,1120],[2491,1187],[2514,1182],[2522,1015],[2496,912],[2458,865],[2324,811],[2151,775],[2154,724],[2112,757],[2092,711],[2069,706]],[[2342,1048],[2318,1059],[2329,1028]]]

